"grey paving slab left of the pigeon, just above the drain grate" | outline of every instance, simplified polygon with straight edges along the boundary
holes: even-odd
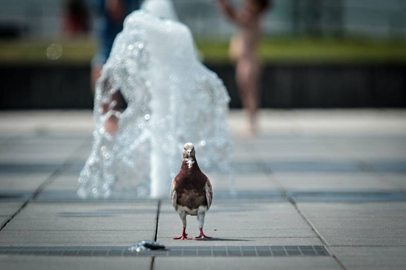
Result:
[[[0,245],[128,245],[152,240],[157,205],[28,204],[0,232]]]

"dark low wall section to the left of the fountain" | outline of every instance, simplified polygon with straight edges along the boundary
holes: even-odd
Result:
[[[91,108],[87,65],[0,66],[0,109]]]

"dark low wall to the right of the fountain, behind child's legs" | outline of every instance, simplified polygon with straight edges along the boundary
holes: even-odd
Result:
[[[240,107],[233,68],[209,67],[224,80],[231,107]],[[404,107],[406,65],[267,65],[260,103],[274,108]]]

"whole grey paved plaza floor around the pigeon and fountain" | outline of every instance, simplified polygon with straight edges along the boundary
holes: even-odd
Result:
[[[213,239],[181,241],[169,199],[76,196],[91,111],[0,112],[0,268],[406,268],[406,110],[259,118],[252,138],[242,111],[230,112],[233,180],[208,173]],[[198,235],[194,217],[187,233]],[[165,256],[123,249],[154,239]]]

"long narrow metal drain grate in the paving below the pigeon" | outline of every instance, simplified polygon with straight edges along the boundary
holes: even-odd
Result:
[[[128,247],[0,247],[3,255],[48,256],[329,256],[324,246],[199,246],[131,252]]]

